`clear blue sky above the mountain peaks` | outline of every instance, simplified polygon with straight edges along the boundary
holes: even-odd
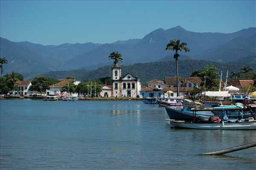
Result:
[[[256,27],[256,1],[0,0],[0,36],[14,42],[113,43],[175,26],[220,33]]]

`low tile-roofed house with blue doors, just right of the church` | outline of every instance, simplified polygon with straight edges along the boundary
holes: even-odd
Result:
[[[157,87],[151,85],[140,90],[140,98],[152,98],[152,97],[164,97],[163,89],[158,89]]]

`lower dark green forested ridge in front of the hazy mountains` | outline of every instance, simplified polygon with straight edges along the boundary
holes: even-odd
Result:
[[[247,61],[250,61],[248,63]],[[203,66],[213,64],[218,68],[217,72],[229,72],[237,70],[241,71],[243,66],[249,66],[253,69],[253,72],[256,70],[256,57],[250,56],[246,58],[241,58],[241,61],[229,62],[229,63],[218,63],[206,60],[189,60],[189,59],[180,59],[179,60],[179,76],[187,78],[195,69],[204,69]],[[71,71],[58,71],[58,72],[49,72],[42,75],[47,77],[52,77],[55,79],[66,78],[67,76],[74,77],[78,80],[83,81],[87,80],[96,80],[101,77],[112,76],[113,65],[103,66],[96,70],[87,71],[87,70],[71,70]],[[141,82],[148,82],[154,78],[157,78],[160,81],[163,81],[164,77],[175,77],[176,76],[176,61],[173,58],[170,61],[160,61],[160,62],[149,62],[149,63],[136,63],[133,65],[122,66],[122,74],[131,73],[134,76],[137,76]],[[24,76],[26,79],[26,76]]]

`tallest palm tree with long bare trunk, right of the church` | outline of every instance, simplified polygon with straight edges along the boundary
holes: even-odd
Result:
[[[175,51],[175,55],[173,55],[173,58],[176,59],[176,70],[177,70],[177,96],[179,96],[179,75],[178,75],[178,57],[180,56],[178,51],[181,52],[182,49],[185,50],[185,52],[189,52],[190,49],[186,47],[186,43],[180,43],[180,39],[170,40],[170,42],[166,45],[166,50],[173,50]]]

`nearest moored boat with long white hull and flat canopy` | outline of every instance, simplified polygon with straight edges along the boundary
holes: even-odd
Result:
[[[194,119],[193,121],[186,120],[174,120],[168,119],[167,121],[172,124],[175,128],[189,128],[189,129],[209,129],[209,130],[250,130],[256,129],[256,117],[255,117],[255,108],[251,107],[254,110],[250,110],[247,107],[209,107],[209,108],[193,108],[191,109],[193,112]],[[218,116],[211,116],[208,120],[198,120],[196,116],[200,114],[202,111],[209,110],[225,110],[225,111],[234,111],[238,110],[239,112],[249,111],[251,114],[250,118],[233,118],[233,119],[220,119]],[[222,112],[223,113],[223,112]]]

